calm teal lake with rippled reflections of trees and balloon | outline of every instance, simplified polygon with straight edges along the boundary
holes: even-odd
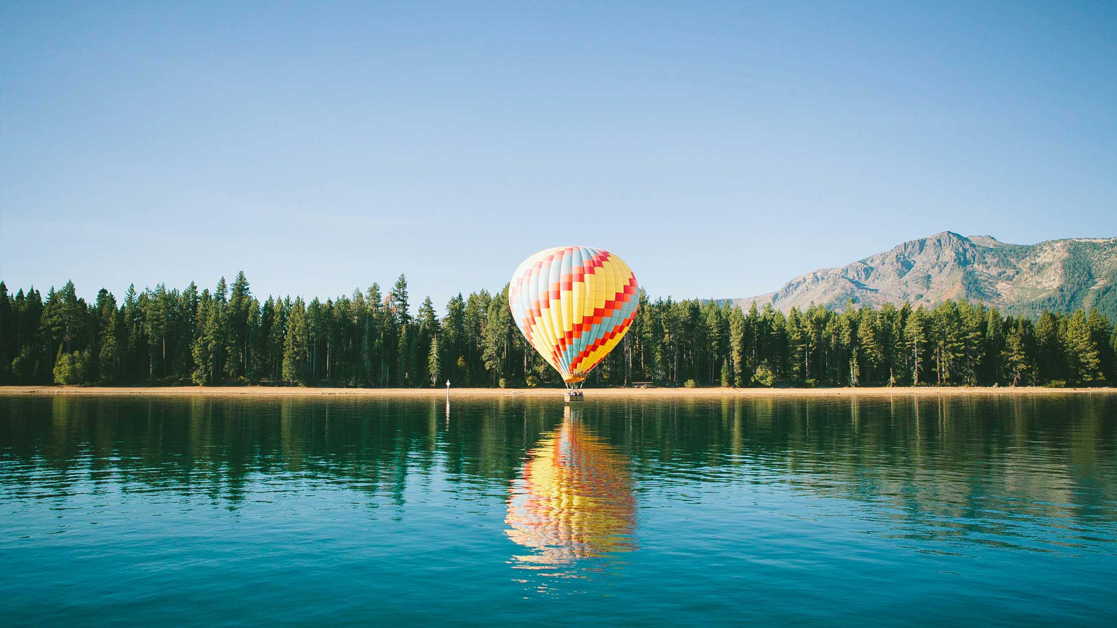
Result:
[[[0,566],[9,628],[1111,625],[1117,396],[0,397]]]

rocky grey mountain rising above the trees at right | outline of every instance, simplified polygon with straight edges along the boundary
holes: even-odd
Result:
[[[748,308],[772,303],[786,312],[813,301],[843,309],[850,299],[873,307],[891,301],[935,306],[967,299],[1006,313],[1097,307],[1117,319],[1117,238],[1072,238],[1006,244],[991,235],[952,231],[905,242],[842,268],[792,279],[776,292],[733,299]]]

